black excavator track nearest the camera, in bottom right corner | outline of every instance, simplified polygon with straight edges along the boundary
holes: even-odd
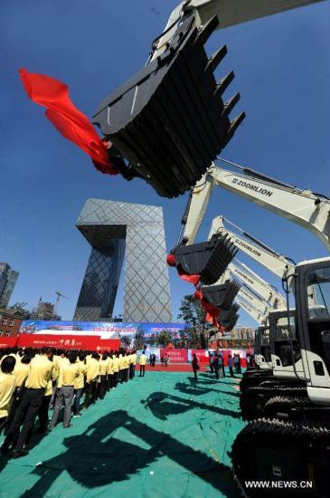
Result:
[[[328,425],[253,420],[236,437],[231,458],[235,479],[247,497],[292,496],[294,492],[312,498],[329,496]],[[251,482],[259,484],[251,487]]]

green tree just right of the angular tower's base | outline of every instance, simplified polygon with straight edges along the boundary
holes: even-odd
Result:
[[[212,326],[206,321],[206,313],[199,299],[194,295],[186,295],[179,308],[178,319],[189,326],[191,336],[190,347],[207,348],[209,332]]]

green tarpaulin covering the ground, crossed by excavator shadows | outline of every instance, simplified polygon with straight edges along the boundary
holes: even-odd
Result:
[[[237,379],[146,372],[57,426],[23,458],[0,456],[0,496],[239,496],[231,444]]]

